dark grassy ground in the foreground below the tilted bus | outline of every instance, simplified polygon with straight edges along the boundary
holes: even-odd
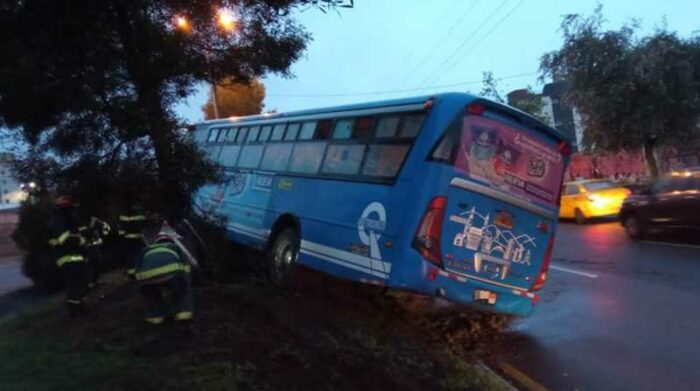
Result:
[[[473,361],[426,348],[425,330],[402,330],[413,315],[393,303],[325,289],[208,284],[190,328],[144,325],[123,282],[78,321],[58,297],[0,324],[0,390],[505,389]]]

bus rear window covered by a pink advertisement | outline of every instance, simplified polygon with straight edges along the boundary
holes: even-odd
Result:
[[[529,132],[493,119],[466,116],[455,168],[516,196],[554,205],[564,159],[556,147]]]

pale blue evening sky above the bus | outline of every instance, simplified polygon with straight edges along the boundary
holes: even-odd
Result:
[[[502,92],[538,82],[542,54],[561,45],[562,16],[603,5],[607,28],[634,18],[652,32],[665,18],[681,36],[700,30],[697,0],[355,0],[324,14],[298,12],[313,36],[292,78],[264,77],[265,110],[287,112],[445,91],[481,90],[484,71]],[[208,88],[178,105],[202,119]]]

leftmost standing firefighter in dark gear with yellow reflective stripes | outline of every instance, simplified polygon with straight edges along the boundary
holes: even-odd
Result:
[[[49,240],[49,245],[66,282],[68,313],[74,317],[83,310],[88,274],[84,254],[86,241],[79,231],[75,204],[70,196],[62,195],[56,199],[51,225],[54,237]]]

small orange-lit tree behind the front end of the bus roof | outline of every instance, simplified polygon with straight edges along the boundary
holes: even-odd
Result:
[[[250,84],[235,83],[231,79],[216,86],[216,100],[219,107],[219,117],[233,117],[260,114],[265,100],[265,86],[253,79]],[[209,99],[202,107],[205,119],[216,118],[214,115],[214,98],[211,90]]]

